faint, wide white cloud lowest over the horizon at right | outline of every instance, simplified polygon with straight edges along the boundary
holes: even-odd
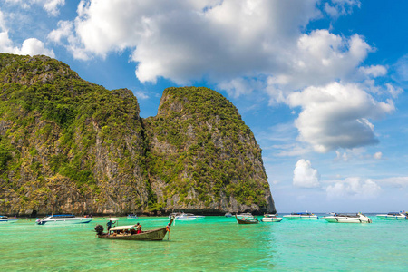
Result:
[[[372,199],[382,188],[371,179],[347,178],[326,188],[328,199]]]

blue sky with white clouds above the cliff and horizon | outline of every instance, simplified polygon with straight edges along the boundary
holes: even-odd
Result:
[[[0,0],[0,52],[130,89],[205,86],[262,149],[277,212],[408,209],[408,1]]]

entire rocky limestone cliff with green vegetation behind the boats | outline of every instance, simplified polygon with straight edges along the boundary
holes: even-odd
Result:
[[[206,88],[166,89],[141,119],[45,56],[0,54],[0,213],[274,212],[261,151]]]

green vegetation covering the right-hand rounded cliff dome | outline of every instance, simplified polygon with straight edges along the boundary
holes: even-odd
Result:
[[[149,165],[167,185],[164,199],[180,194],[180,202],[204,202],[209,208],[224,196],[267,207],[261,151],[236,107],[218,92],[166,89],[158,115],[147,119],[146,128],[149,139],[157,138]],[[170,149],[161,150],[163,144]]]

